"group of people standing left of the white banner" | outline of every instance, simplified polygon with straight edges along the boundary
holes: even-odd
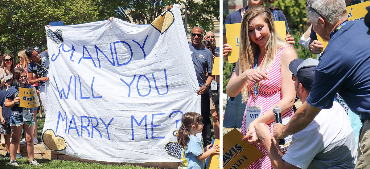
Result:
[[[44,118],[42,108],[41,106],[19,107],[19,87],[36,88],[41,105],[46,110],[45,82],[49,79],[47,77],[48,51],[42,52],[38,47],[27,48],[18,53],[17,64],[13,63],[13,58],[8,54],[2,55],[0,61],[0,132],[1,140],[4,141],[1,144],[5,144],[7,150],[3,158],[10,159],[11,166],[18,166],[16,159],[22,158],[20,144],[26,144],[30,164],[41,166],[34,159],[34,144],[38,143],[37,119]],[[39,114],[38,118],[36,118],[37,114]]]

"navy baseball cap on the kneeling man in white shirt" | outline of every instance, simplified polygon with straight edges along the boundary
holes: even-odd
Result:
[[[294,59],[289,63],[289,70],[297,77],[297,80],[302,83],[306,90],[311,91],[315,69],[318,64],[319,61],[313,58],[306,60]]]

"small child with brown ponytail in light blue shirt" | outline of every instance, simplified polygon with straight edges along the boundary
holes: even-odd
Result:
[[[212,154],[220,154],[220,146],[212,144],[203,149],[202,142],[196,134],[202,132],[202,116],[198,113],[185,113],[181,118],[181,127],[177,141],[182,146],[181,163],[182,169],[204,169],[205,159]]]

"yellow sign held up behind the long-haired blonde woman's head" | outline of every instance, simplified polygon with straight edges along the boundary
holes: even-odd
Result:
[[[274,21],[277,34],[281,38],[286,37],[286,28],[284,21]],[[226,41],[232,47],[232,52],[229,52],[229,63],[236,63],[239,59],[239,43],[240,43],[240,26],[242,24],[226,24]]]

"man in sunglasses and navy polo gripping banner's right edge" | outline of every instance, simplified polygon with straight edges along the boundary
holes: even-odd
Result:
[[[212,67],[213,67],[213,55],[202,45],[203,30],[202,28],[195,27],[191,31],[191,42],[189,42],[189,48],[192,52],[191,58],[194,63],[196,78],[199,83],[199,90],[196,94],[201,94],[201,115],[203,117],[202,123],[204,125],[202,131],[204,147],[211,144],[211,119],[210,117],[210,105],[209,105],[209,85],[213,80]],[[208,73],[208,76],[207,76]]]

